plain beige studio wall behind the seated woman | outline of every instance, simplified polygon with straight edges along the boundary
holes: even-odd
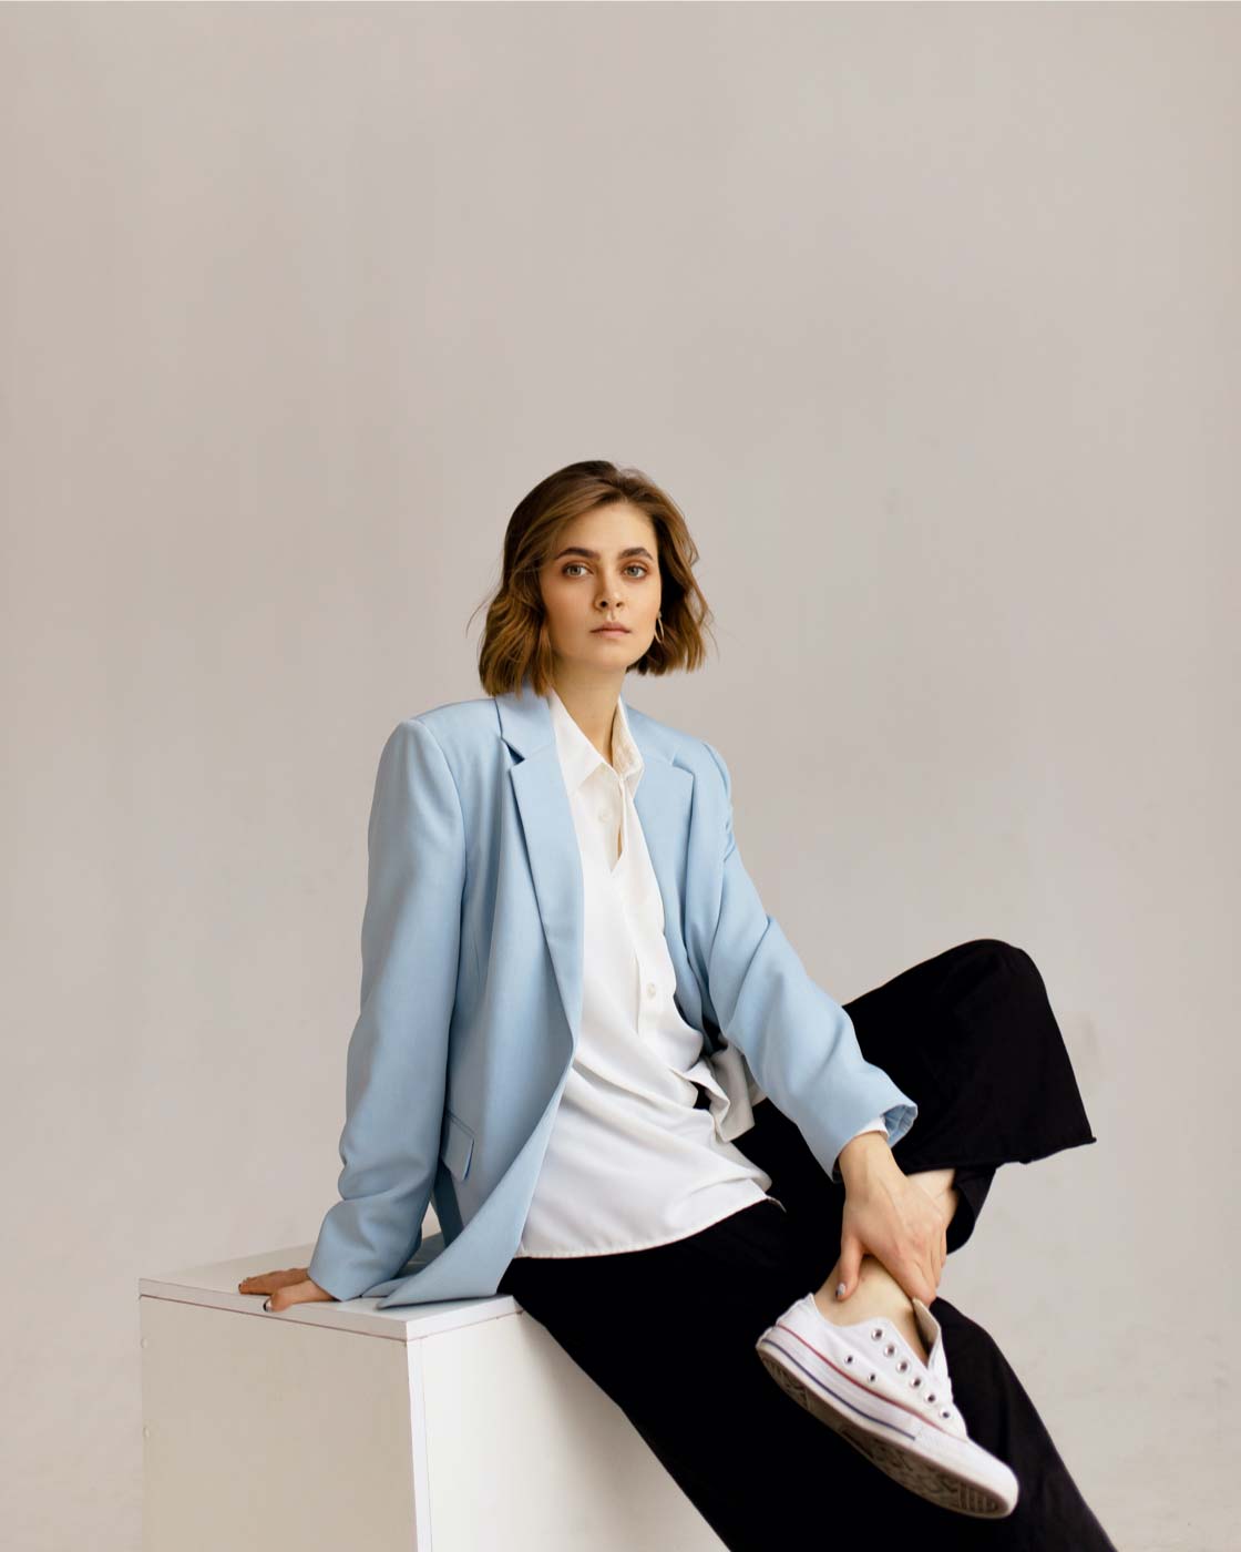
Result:
[[[687,511],[720,653],[627,694],[822,984],[1038,961],[1100,1141],[942,1288],[1120,1547],[1232,1544],[1239,61],[1235,5],[0,11],[9,1546],[138,1546],[138,1277],[316,1234],[380,747],[589,456]]]

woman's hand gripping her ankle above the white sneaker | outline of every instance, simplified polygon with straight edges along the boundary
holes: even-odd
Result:
[[[841,1299],[858,1287],[861,1260],[869,1252],[911,1299],[931,1304],[948,1257],[948,1225],[934,1197],[909,1180],[876,1131],[852,1139],[841,1152],[839,1169],[845,1187]]]

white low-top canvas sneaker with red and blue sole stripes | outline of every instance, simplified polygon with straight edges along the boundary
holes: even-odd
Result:
[[[881,1471],[959,1515],[1002,1519],[1011,1468],[974,1443],[952,1405],[940,1322],[914,1299],[923,1363],[884,1316],[835,1325],[807,1293],[754,1344],[777,1384]]]

